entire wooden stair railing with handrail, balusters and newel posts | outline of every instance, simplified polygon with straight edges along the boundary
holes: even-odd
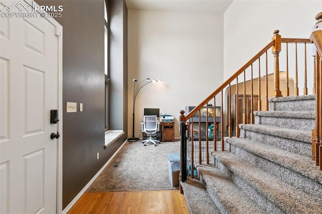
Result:
[[[283,47],[286,47],[285,51],[285,96],[290,95],[290,87],[289,87],[289,56],[292,55],[295,57],[294,62],[294,71],[295,74],[293,74],[294,77],[294,95],[299,95],[299,79],[303,79],[303,95],[308,94],[308,87],[307,87],[307,64],[311,61],[312,64],[314,64],[314,68],[312,68],[313,73],[313,87],[312,87],[312,93],[316,94],[316,127],[314,130],[312,130],[312,149],[314,147],[314,159],[316,160],[316,165],[320,166],[320,169],[322,170],[322,120],[320,120],[320,116],[322,116],[322,94],[320,92],[320,89],[322,89],[322,81],[320,81],[320,78],[322,77],[322,13],[318,14],[316,16],[316,19],[318,20],[317,24],[319,30],[314,31],[310,37],[310,39],[291,39],[291,38],[281,38],[279,35],[279,31],[274,31],[274,36],[272,37],[272,41],[269,42],[260,52],[258,52],[252,59],[250,59],[243,67],[238,69],[231,77],[229,77],[224,83],[222,83],[217,89],[215,89],[208,97],[206,97],[203,101],[201,101],[192,111],[190,111],[187,115],[185,115],[185,111],[181,111],[180,116],[180,122],[181,122],[181,172],[183,172],[184,169],[186,169],[186,160],[187,157],[187,150],[189,150],[187,146],[187,139],[191,141],[191,148],[190,148],[190,161],[191,166],[189,168],[191,169],[191,177],[194,177],[194,165],[195,162],[199,162],[199,164],[209,164],[209,154],[210,149],[213,151],[221,150],[225,151],[227,150],[225,142],[224,142],[224,134],[226,133],[227,137],[239,137],[239,118],[243,119],[243,124],[253,124],[254,123],[254,111],[261,111],[262,110],[262,86],[261,86],[261,79],[265,78],[265,106],[263,109],[265,111],[268,111],[268,98],[269,98],[269,88],[272,88],[272,85],[269,84],[268,81],[268,74],[272,73],[269,72],[269,60],[268,60],[268,50],[271,48],[272,53],[274,56],[274,81],[273,81],[273,91],[271,93],[270,97],[280,97],[282,96],[282,92],[280,90],[280,52],[282,51],[282,44]],[[316,25],[314,27],[316,27]],[[307,52],[307,45],[311,45],[311,43],[314,43],[316,46],[316,57],[314,57],[314,61],[307,60],[308,54]],[[294,54],[289,53],[289,45],[295,46],[295,52]],[[298,54],[298,46],[302,45],[304,47],[304,51],[300,52]],[[303,60],[303,70],[302,68],[299,68],[299,60],[298,55],[304,56]],[[309,56],[311,57],[311,56]],[[261,60],[262,59],[262,60]],[[264,61],[264,66],[261,64]],[[283,60],[282,60],[283,61]],[[257,67],[258,66],[258,67]],[[254,68],[256,67],[256,68]],[[263,67],[265,69],[265,74],[263,74]],[[257,77],[253,77],[254,75],[254,69],[258,70]],[[303,78],[298,78],[298,69],[301,69],[301,73],[303,73]],[[247,73],[247,71],[250,71],[250,73]],[[239,82],[240,76],[244,78],[243,82]],[[238,78],[239,77],[239,78]],[[250,89],[246,87],[246,84],[250,81]],[[258,82],[258,86],[254,86],[254,81]],[[232,85],[235,85],[235,94],[238,97],[239,93],[239,87],[238,84],[243,85],[243,106],[240,106],[238,104],[238,99],[236,98],[236,102],[234,103],[235,112],[231,111],[231,93],[234,93],[231,88]],[[224,109],[224,90],[227,91],[227,109]],[[250,90],[250,91],[249,91]],[[257,95],[254,95],[254,90],[257,90]],[[246,108],[247,99],[248,96],[247,93],[250,93],[250,110],[248,111]],[[258,97],[257,102],[254,102],[254,97]],[[219,101],[218,101],[219,100]],[[211,101],[213,101],[214,105],[214,115],[210,116],[212,123],[215,123],[216,121],[216,113],[215,113],[215,107],[216,104],[220,103],[219,106],[221,106],[221,112],[220,112],[220,124],[221,126],[216,127],[213,132],[208,129],[209,125],[209,115],[208,115],[208,106],[211,105]],[[256,105],[256,106],[255,106]],[[206,106],[206,107],[205,107]],[[206,108],[206,128],[205,130],[201,130],[201,109]],[[240,108],[243,108],[243,114],[239,114]],[[224,115],[226,113],[226,115]],[[232,123],[231,120],[231,114],[235,114],[235,121]],[[196,117],[195,115],[198,115]],[[194,117],[195,116],[195,117]],[[224,119],[224,116],[226,117]],[[190,122],[188,122],[190,120]],[[196,121],[194,121],[196,120]],[[224,132],[224,123],[227,123],[227,131]],[[187,125],[188,124],[188,125]],[[194,130],[194,124],[198,125],[197,131]],[[233,134],[233,128],[234,128],[234,134]],[[202,137],[202,132],[204,132],[204,137]],[[210,135],[212,134],[212,135]],[[197,141],[196,143],[194,141]],[[205,144],[204,144],[205,142]],[[217,144],[219,142],[219,144]],[[205,150],[205,151],[202,151]],[[196,152],[195,152],[196,151]],[[205,153],[205,160],[202,159],[201,155],[202,153]],[[198,156],[195,157],[194,156]],[[312,155],[313,156],[313,155]],[[185,170],[184,170],[185,171]],[[187,179],[186,172],[181,173],[181,181],[185,181]]]

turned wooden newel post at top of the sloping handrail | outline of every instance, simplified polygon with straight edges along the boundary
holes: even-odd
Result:
[[[274,36],[272,40],[275,40],[275,44],[272,47],[272,53],[274,54],[274,91],[272,93],[272,97],[280,97],[282,96],[282,91],[280,91],[280,65],[279,65],[279,54],[281,52],[282,47],[282,39],[281,35],[279,35],[280,31],[274,31]]]

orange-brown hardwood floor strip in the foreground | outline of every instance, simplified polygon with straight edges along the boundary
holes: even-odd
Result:
[[[179,190],[85,192],[67,214],[190,213]]]

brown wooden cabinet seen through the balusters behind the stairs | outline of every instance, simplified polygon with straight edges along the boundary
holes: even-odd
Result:
[[[238,98],[236,94],[230,95],[230,103],[231,103],[231,126],[232,129],[235,130],[236,126],[236,100],[238,101],[238,124],[244,124],[243,122],[243,114],[244,114],[244,95],[238,94]],[[252,96],[250,94],[246,95],[246,124],[251,123],[251,112],[252,112]],[[258,106],[258,95],[253,95],[253,112],[257,111]]]

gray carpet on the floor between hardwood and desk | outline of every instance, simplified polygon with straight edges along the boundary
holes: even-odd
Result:
[[[177,189],[169,179],[169,153],[180,153],[180,141],[157,146],[127,142],[87,192]]]

